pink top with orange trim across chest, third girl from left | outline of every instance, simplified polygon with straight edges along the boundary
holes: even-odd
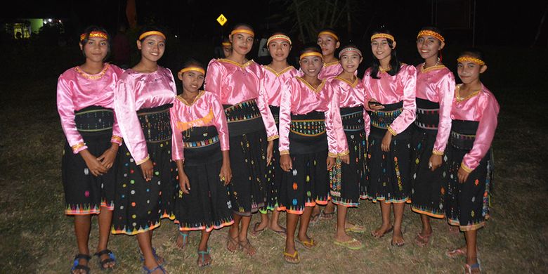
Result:
[[[218,133],[221,150],[229,150],[228,125],[226,124],[225,110],[218,98],[211,92],[200,91],[193,102],[187,102],[177,96],[171,115],[171,154],[174,160],[184,160],[183,131],[195,126],[215,126]]]

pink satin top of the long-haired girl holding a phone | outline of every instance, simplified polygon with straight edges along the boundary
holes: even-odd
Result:
[[[374,99],[383,105],[403,101],[403,111],[388,128],[390,133],[397,135],[415,121],[417,70],[412,65],[402,63],[398,74],[391,76],[386,72],[379,72],[378,75],[380,79],[371,77],[371,67],[365,71],[362,80],[365,94],[368,100]]]

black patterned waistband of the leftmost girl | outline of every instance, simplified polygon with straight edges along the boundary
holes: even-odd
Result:
[[[81,135],[112,133],[114,112],[99,105],[91,105],[74,112],[74,124]]]

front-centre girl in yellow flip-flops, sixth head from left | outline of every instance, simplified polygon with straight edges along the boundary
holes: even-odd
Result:
[[[325,80],[318,78],[322,68],[320,49],[307,46],[299,59],[304,75],[287,82],[280,103],[280,165],[285,172],[278,210],[287,211],[284,259],[289,263],[300,261],[295,241],[306,249],[316,246],[307,235],[312,209],[316,203],[327,204],[330,198],[327,170],[339,155],[337,149],[348,151],[346,143],[337,143],[335,133],[337,130],[338,136],[344,134],[340,117],[336,117],[339,98],[327,89]],[[299,218],[301,225],[295,240]]]

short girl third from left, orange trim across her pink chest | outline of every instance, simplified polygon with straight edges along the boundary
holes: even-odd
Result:
[[[183,65],[177,74],[183,81],[183,93],[176,97],[169,111],[172,158],[177,164],[180,186],[175,202],[176,223],[183,243],[188,231],[202,230],[198,266],[211,263],[207,247],[211,230],[234,223],[225,186],[232,178],[228,126],[216,96],[199,90],[204,84],[204,74],[204,67],[197,61]]]

